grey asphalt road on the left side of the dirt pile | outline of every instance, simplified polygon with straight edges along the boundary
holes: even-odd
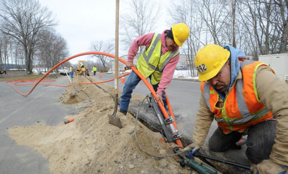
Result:
[[[68,84],[68,81],[67,77],[61,77],[49,83]],[[57,102],[57,96],[66,88],[41,85],[28,97],[21,96],[5,82],[0,82],[0,88],[0,173],[49,173],[49,161],[36,154],[33,148],[18,146],[7,130],[14,126],[32,126],[41,122],[58,125],[64,121],[67,110]],[[17,86],[17,89],[27,94],[32,86]]]

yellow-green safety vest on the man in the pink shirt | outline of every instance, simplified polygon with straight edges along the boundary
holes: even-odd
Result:
[[[179,54],[179,50],[175,50],[161,55],[161,47],[161,35],[154,34],[148,49],[142,52],[136,64],[138,71],[145,78],[151,75],[151,84],[153,85],[160,82],[165,66]]]

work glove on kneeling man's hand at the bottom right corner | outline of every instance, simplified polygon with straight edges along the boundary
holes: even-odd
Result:
[[[284,169],[280,165],[272,162],[271,160],[264,160],[257,165],[252,164],[252,166],[254,167],[253,174],[284,174],[284,173],[287,173],[286,169]]]

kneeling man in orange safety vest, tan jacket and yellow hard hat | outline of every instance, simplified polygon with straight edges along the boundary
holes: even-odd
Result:
[[[266,64],[239,62],[244,52],[231,46],[206,45],[195,57],[201,83],[200,107],[193,132],[193,155],[215,119],[218,128],[208,141],[214,152],[225,152],[246,140],[246,156],[254,173],[288,170],[288,85]]]

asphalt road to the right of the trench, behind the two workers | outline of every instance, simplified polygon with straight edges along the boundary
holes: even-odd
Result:
[[[115,77],[115,74],[101,73],[101,75],[102,78],[99,78],[99,73],[93,77],[102,81],[114,79]],[[121,74],[119,74],[119,76],[120,75]],[[128,76],[125,76],[125,80],[127,78]],[[119,79],[118,89],[123,90],[124,83],[120,83],[120,81],[121,80]],[[107,83],[114,86],[114,81]],[[172,80],[169,88],[166,89],[166,92],[170,99],[175,117],[177,118],[176,123],[179,132],[188,137],[192,137],[201,95],[200,82]],[[147,86],[140,81],[133,93],[146,96],[148,93],[150,93],[150,91],[148,90]],[[216,128],[217,123],[214,121],[207,137],[212,136]],[[208,138],[206,138],[206,140],[207,139]]]

